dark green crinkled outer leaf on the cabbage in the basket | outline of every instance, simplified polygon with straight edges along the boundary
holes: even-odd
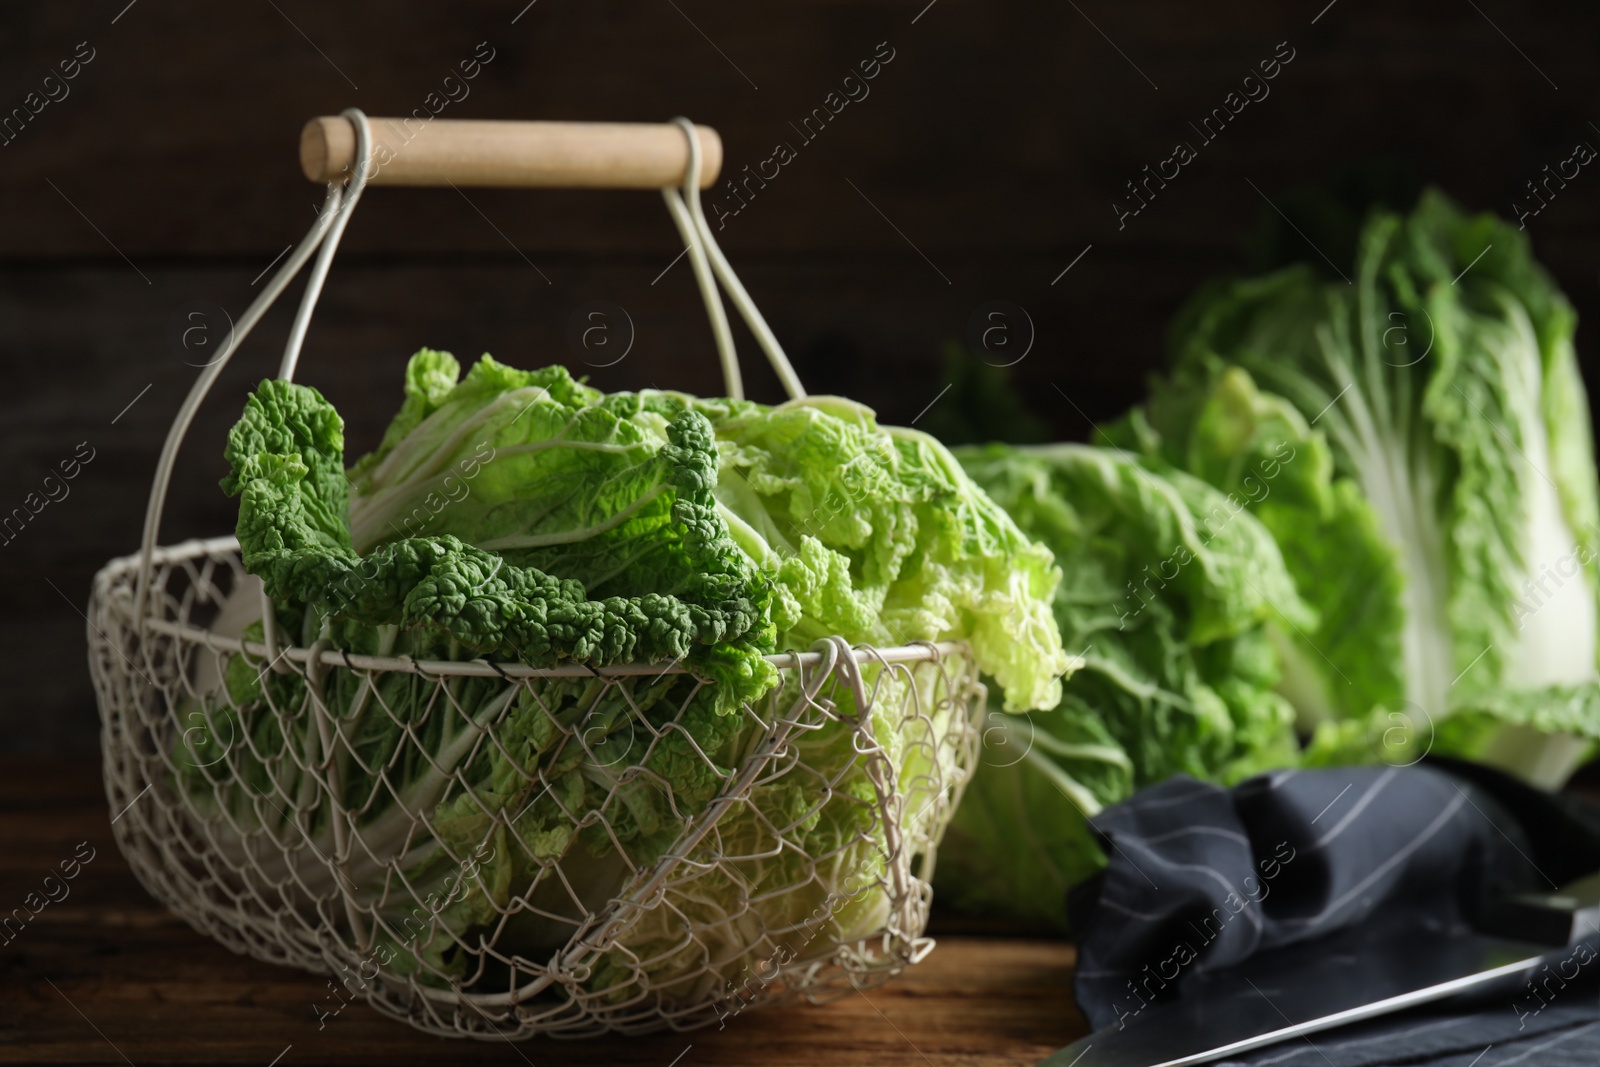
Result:
[[[427,355],[437,362],[438,354]],[[370,464],[366,485],[389,491],[374,499],[421,498],[414,510],[432,507],[435,483],[440,490],[450,478],[467,485],[462,478],[474,474],[469,464],[477,459],[458,458],[456,450],[482,456],[488,440],[491,453],[509,453],[509,462],[474,478],[478,494],[467,499],[477,506],[450,512],[443,526],[451,533],[382,541],[365,557],[354,547],[347,512],[365,518],[382,512],[378,504],[349,506],[338,413],[304,386],[261,384],[229,434],[226,456],[234,470],[222,488],[240,496],[245,566],[262,577],[267,595],[322,605],[366,625],[438,629],[470,651],[533,665],[675,661],[696,649],[706,653],[699,662],[726,665],[736,651],[752,688],[734,696],[770,688],[771,669],[760,665],[760,653],[773,649],[770,593],[715,517],[717,446],[704,416],[686,411],[664,427],[664,440],[646,440],[603,408],[558,400],[542,379],[571,384],[560,381],[560,368],[554,368],[560,374],[536,376],[485,360],[474,370],[482,373],[469,374],[448,406],[419,421],[386,456],[398,469],[395,477],[410,482],[384,485],[378,480],[382,467]],[[483,403],[486,397],[493,398]],[[477,418],[454,424],[451,416],[470,405]],[[416,414],[408,406],[400,418]],[[434,442],[435,451],[411,466],[395,462],[422,451],[406,448],[411,437]],[[453,461],[461,474],[448,474]],[[501,499],[536,478],[549,478],[542,507]],[[586,485],[602,491],[584,493]],[[600,499],[574,502],[576,496]],[[550,507],[550,499],[558,506]],[[646,504],[656,504],[648,517]],[[458,533],[475,534],[477,544]],[[629,557],[630,541],[646,536],[650,550]],[[573,545],[582,545],[587,573],[573,565]],[[587,585],[606,582],[555,577],[539,566],[549,568],[552,557],[563,565],[562,574],[589,579],[595,557],[627,558],[630,595],[590,598]],[[707,648],[718,643],[726,643],[720,661]]]

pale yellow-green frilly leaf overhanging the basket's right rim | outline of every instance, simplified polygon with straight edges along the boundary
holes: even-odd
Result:
[[[704,411],[723,448],[717,496],[776,577],[781,643],[966,640],[1010,710],[1053,707],[1072,659],[1050,616],[1061,579],[933,437],[838,397],[776,408],[643,394]]]

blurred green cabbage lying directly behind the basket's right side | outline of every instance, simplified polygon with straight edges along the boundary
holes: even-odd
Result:
[[[1238,498],[1086,445],[958,450],[1062,568],[1053,611],[1083,669],[1058,707],[989,715],[939,856],[957,907],[1066,928],[1066,889],[1104,859],[1085,822],[1176,773],[1237,781],[1296,760],[1269,627],[1314,627]]]

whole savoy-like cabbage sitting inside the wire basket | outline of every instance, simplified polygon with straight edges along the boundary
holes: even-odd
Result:
[[[846,400],[608,395],[488,357],[462,378],[422,350],[382,443],[349,470],[331,405],[277,381],[250,397],[226,454],[243,563],[293,643],[690,670],[440,685],[333,667],[328,736],[301,673],[227,664],[210,729],[181,742],[181,784],[213,837],[270,881],[354,897],[386,961],[429,984],[493,989],[512,955],[546,960],[587,929],[760,739],[746,709],[781,685],[768,653],[834,635],[963,640],[1016,710],[1053,705],[1072,667],[1050,552],[933,438]],[[950,752],[894,736],[878,710],[872,723],[917,800],[926,761]],[[726,854],[749,857],[738,877],[646,912],[582,995],[637,1000],[645,977],[704,997],[738,977],[747,944],[827,902],[840,941],[875,929],[885,902],[861,885],[888,843],[861,753],[838,723],[790,744],[810,773],[757,782],[717,827]],[[328,782],[349,825],[318,800]],[[907,832],[928,817],[907,813]],[[408,913],[424,897],[437,921],[424,913],[418,936]],[[702,936],[685,939],[685,923]]]

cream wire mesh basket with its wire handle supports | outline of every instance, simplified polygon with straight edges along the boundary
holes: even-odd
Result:
[[[346,115],[370,158],[365,117]],[[738,282],[699,213],[699,144],[683,125],[683,195],[664,192],[736,395],[710,278],[730,294]],[[829,638],[771,656],[781,685],[706,750],[686,720],[714,683],[683,664],[298,646],[270,624],[237,541],[155,545],[195,408],[320,246],[280,371],[293,374],[365,184],[355,171],[202,371],[157,469],[142,550],[94,579],[106,790],[141,883],[235,952],[330,974],[440,1035],[693,1029],[918,961],[984,705],[965,645]],[[742,288],[734,302],[749,320]],[[754,331],[768,347],[765,323]],[[251,621],[267,624],[259,640]]]

